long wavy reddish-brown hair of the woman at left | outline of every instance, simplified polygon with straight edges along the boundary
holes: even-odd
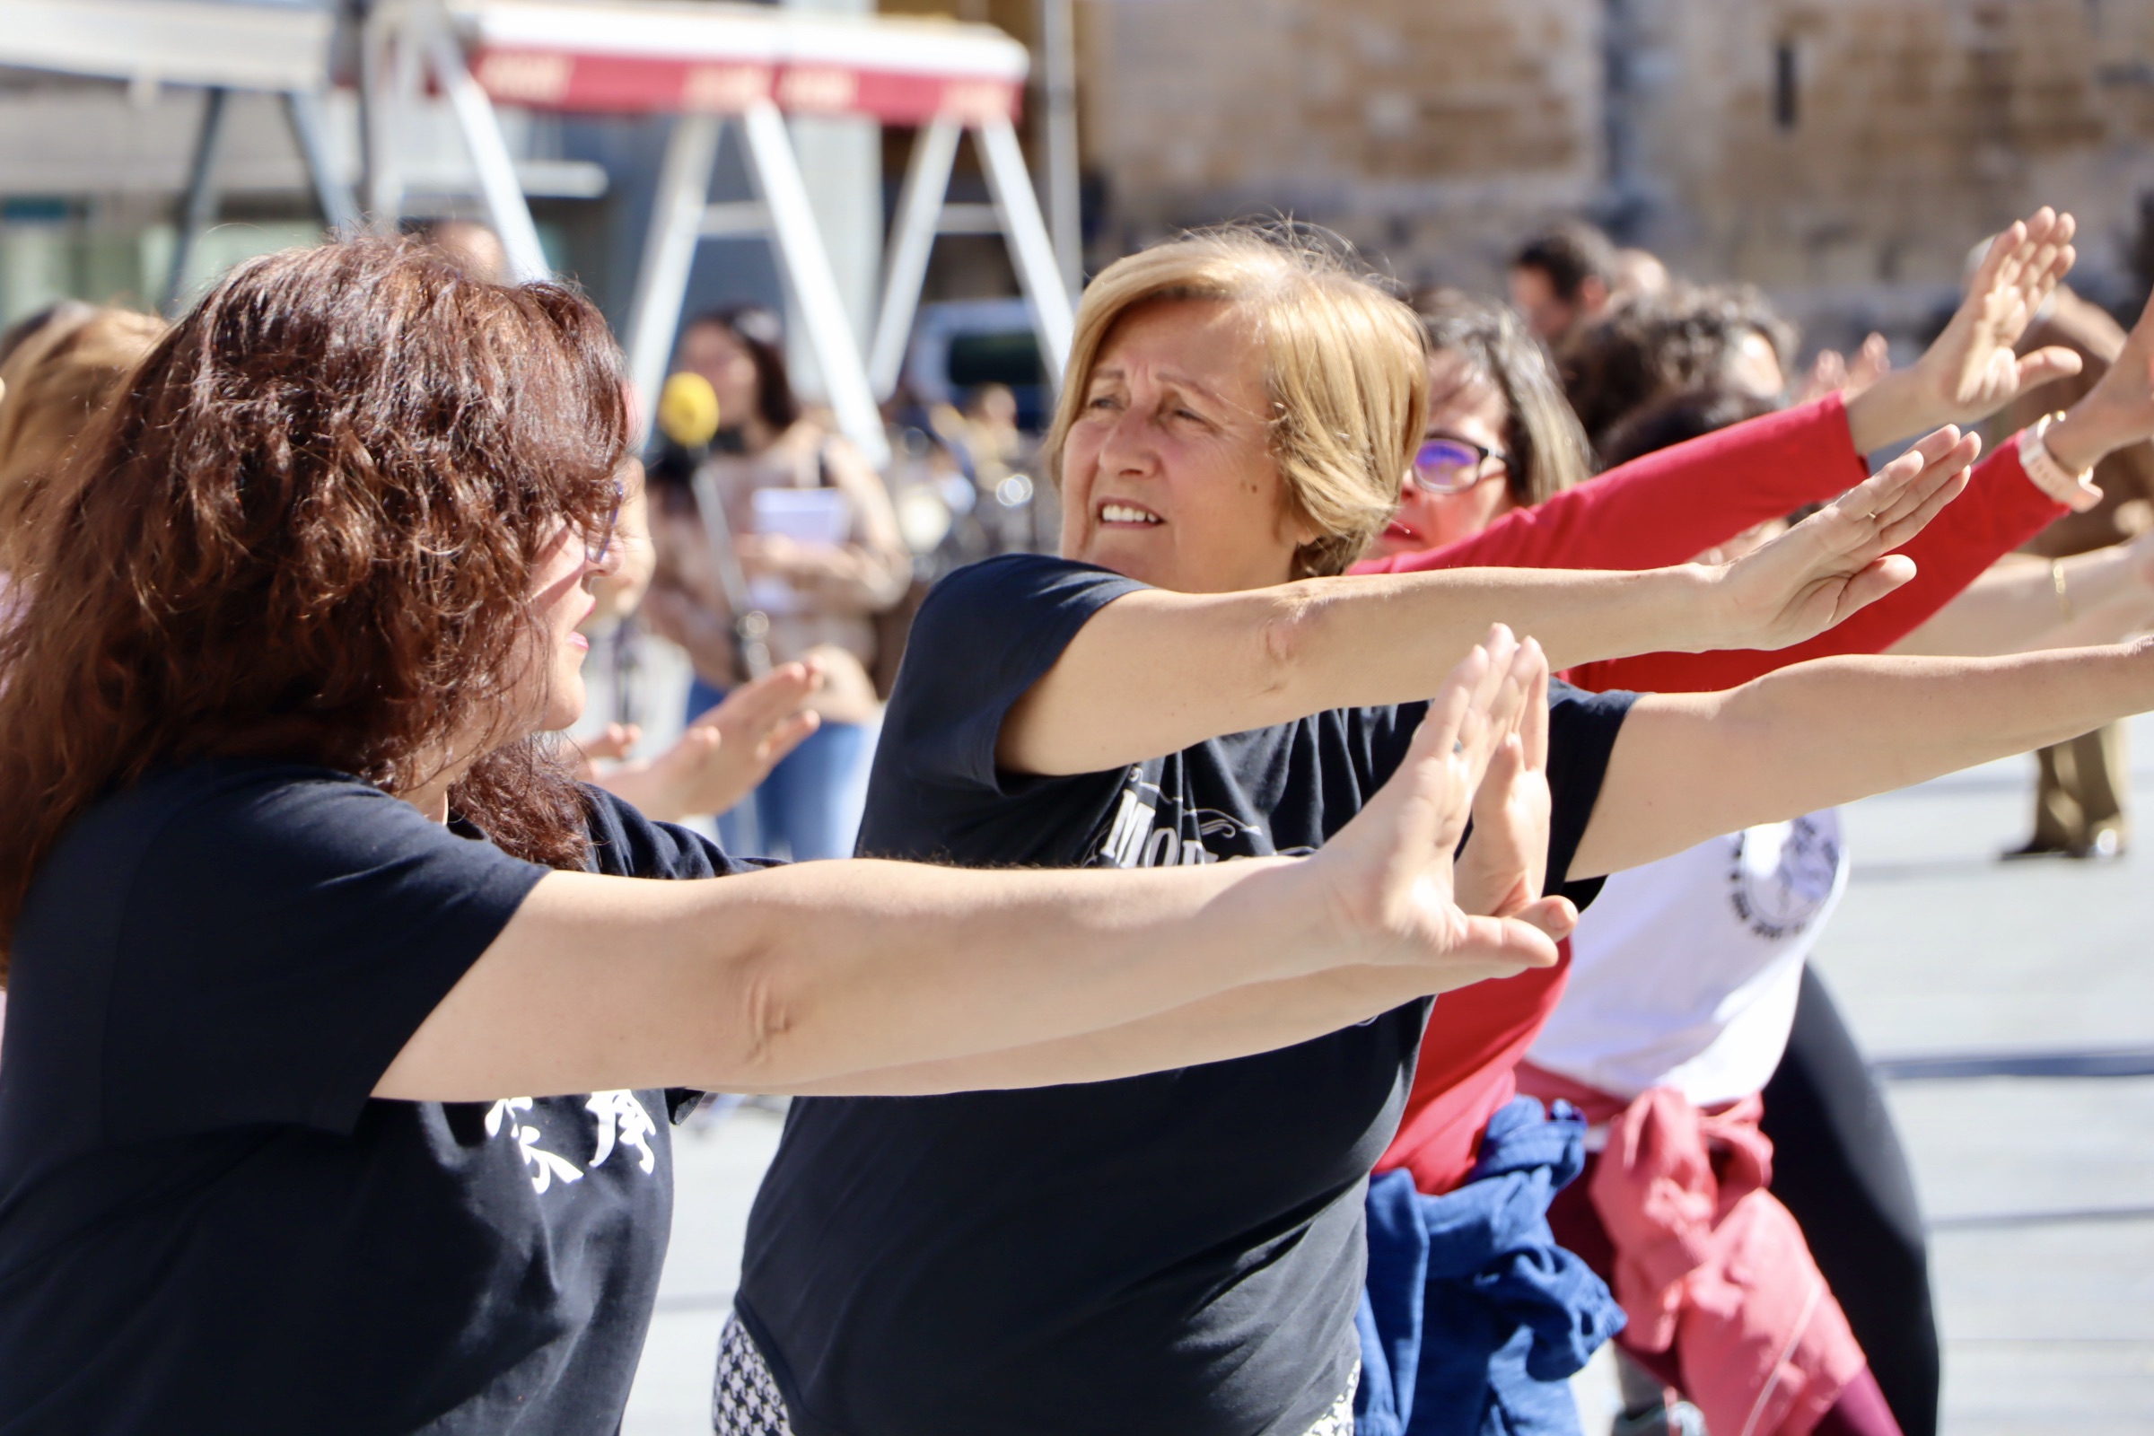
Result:
[[[530,581],[612,510],[620,383],[573,291],[388,239],[258,258],[159,340],[26,510],[0,596],[0,984],[67,825],[190,760],[409,792],[493,734],[450,807],[579,865],[582,794],[521,732]]]

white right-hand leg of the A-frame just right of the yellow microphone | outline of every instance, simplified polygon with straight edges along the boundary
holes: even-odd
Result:
[[[883,437],[883,416],[875,407],[868,366],[859,360],[859,344],[853,340],[853,325],[838,293],[838,276],[829,267],[829,252],[808,207],[808,181],[801,179],[799,159],[793,155],[786,121],[778,114],[778,105],[765,99],[741,116],[741,129],[747,138],[747,168],[763,202],[771,207],[778,258],[793,288],[793,301],[799,304],[801,323],[808,325],[816,364],[823,366],[838,428],[868,456],[868,463],[877,469],[887,467],[890,441]]]

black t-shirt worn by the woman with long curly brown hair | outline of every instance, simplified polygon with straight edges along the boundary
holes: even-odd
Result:
[[[597,868],[732,863],[590,792]],[[351,777],[205,762],[73,822],[15,930],[0,1432],[612,1432],[663,1092],[368,1094],[545,874]]]

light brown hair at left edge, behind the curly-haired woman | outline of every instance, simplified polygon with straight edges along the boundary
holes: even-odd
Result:
[[[11,336],[0,353],[0,551],[30,489],[60,469],[164,329],[153,314],[62,304]]]

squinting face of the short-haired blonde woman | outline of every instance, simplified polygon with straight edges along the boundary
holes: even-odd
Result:
[[[1262,351],[1234,306],[1124,314],[1062,446],[1062,555],[1191,594],[1286,583],[1316,534],[1286,502],[1269,413]]]

